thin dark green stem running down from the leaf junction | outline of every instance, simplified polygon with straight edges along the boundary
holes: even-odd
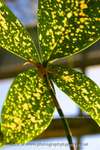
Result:
[[[62,111],[62,109],[61,109],[61,107],[60,107],[60,105],[59,105],[59,103],[57,101],[57,98],[55,96],[56,93],[55,93],[54,86],[53,86],[52,82],[48,79],[48,77],[47,77],[47,84],[49,86],[50,93],[51,93],[51,95],[53,97],[53,102],[54,102],[54,104],[55,104],[55,106],[57,108],[57,111],[58,111],[58,113],[59,113],[59,115],[61,117],[61,120],[62,120],[62,123],[63,123],[63,127],[64,127],[64,131],[65,131],[65,135],[66,135],[66,138],[67,138],[69,146],[70,146],[70,150],[75,150],[75,146],[74,146],[73,140],[72,140],[72,133],[71,133],[71,130],[69,128],[69,124],[68,124],[67,120],[65,119],[63,111]]]

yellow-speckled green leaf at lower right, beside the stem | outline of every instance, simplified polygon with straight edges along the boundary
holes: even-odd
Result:
[[[100,126],[100,88],[83,73],[69,67],[55,66],[51,69],[54,83]]]

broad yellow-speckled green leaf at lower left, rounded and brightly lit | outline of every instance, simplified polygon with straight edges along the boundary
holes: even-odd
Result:
[[[2,110],[1,131],[5,143],[26,143],[50,124],[54,105],[45,82],[34,70],[19,74]]]

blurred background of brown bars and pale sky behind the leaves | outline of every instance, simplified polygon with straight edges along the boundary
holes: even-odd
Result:
[[[37,0],[5,0],[9,8],[21,20],[35,44],[37,42]],[[64,61],[64,60],[63,60]],[[14,78],[23,68],[24,61],[9,52],[0,49],[0,112],[8,89]],[[71,57],[72,67],[83,71],[100,86],[100,41],[87,51]],[[100,128],[72,100],[57,89],[58,101],[68,119],[77,150],[97,150],[100,147]],[[63,125],[57,111],[48,129],[37,139],[26,145],[7,145],[3,150],[69,150]]]

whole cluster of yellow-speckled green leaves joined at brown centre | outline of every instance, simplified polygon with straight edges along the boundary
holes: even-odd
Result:
[[[39,0],[38,39],[39,49],[0,0],[0,47],[33,65],[15,78],[4,102],[0,132],[5,143],[26,143],[48,127],[55,110],[53,83],[100,126],[100,88],[68,65],[54,64],[100,39],[99,0]]]

